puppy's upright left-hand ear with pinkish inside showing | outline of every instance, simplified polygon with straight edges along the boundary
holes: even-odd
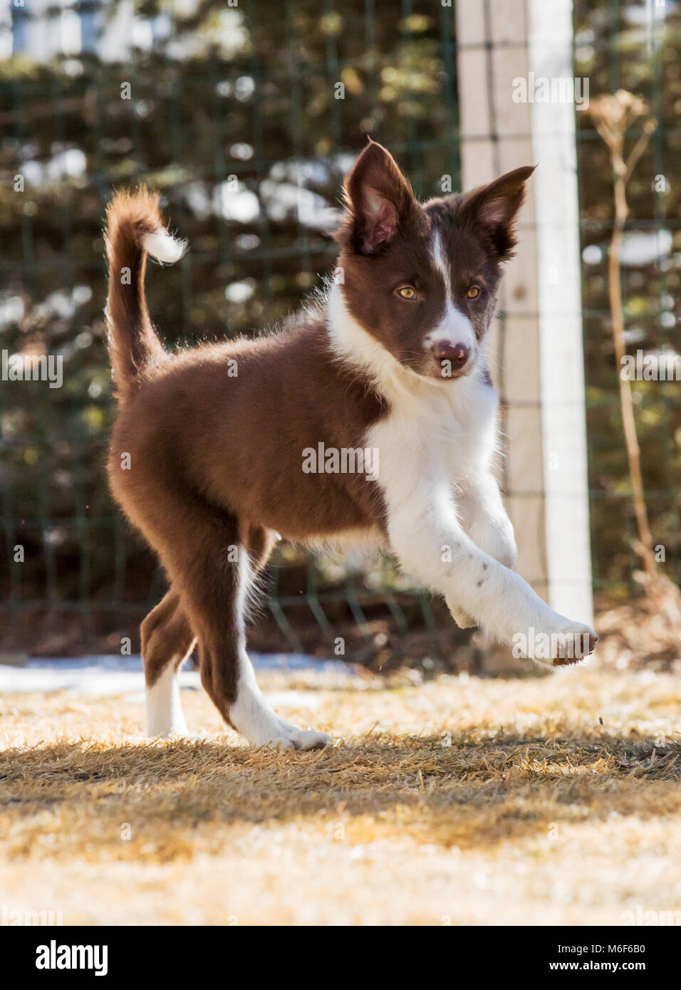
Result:
[[[344,225],[359,254],[376,254],[395,237],[417,205],[392,154],[373,141],[364,148],[343,187]]]

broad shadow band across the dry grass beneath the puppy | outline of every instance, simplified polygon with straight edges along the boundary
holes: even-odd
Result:
[[[445,740],[448,742],[448,740]],[[608,735],[476,742],[368,737],[310,753],[220,741],[53,743],[0,752],[0,822],[14,854],[191,856],[235,826],[343,823],[349,841],[444,847],[545,837],[559,823],[648,820],[681,808],[681,746]],[[121,843],[122,823],[144,840]],[[115,842],[113,840],[116,840]],[[10,843],[11,844],[11,843]],[[46,850],[47,851],[47,850]]]

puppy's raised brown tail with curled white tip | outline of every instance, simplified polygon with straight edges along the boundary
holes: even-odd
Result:
[[[186,244],[165,230],[158,193],[144,187],[116,193],[107,207],[104,238],[109,260],[109,354],[118,397],[125,400],[149,365],[166,356],[146,308],[146,254],[172,263],[182,257]]]

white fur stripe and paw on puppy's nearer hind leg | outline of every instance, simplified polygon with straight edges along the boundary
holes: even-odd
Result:
[[[284,722],[262,697],[252,664],[245,650],[244,612],[251,568],[243,549],[239,555],[239,594],[237,596],[237,633],[239,637],[239,679],[237,700],[230,707],[230,721],[249,743],[269,744],[283,749],[315,749],[326,745],[330,738],[323,733],[306,732]]]

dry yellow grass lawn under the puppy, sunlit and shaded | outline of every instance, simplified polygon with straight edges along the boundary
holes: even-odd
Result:
[[[678,676],[262,680],[302,691],[279,693],[286,718],[345,736],[253,751],[191,691],[190,725],[212,738],[145,743],[137,696],[5,696],[0,903],[136,925],[681,909]]]

